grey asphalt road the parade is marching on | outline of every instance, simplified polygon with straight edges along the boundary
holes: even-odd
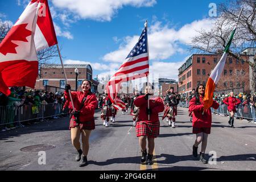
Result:
[[[159,115],[162,117],[162,113]],[[96,114],[96,129],[90,137],[89,165],[79,167],[76,150],[71,144],[68,117],[35,123],[24,128],[0,133],[0,170],[256,170],[256,124],[235,119],[228,127],[228,118],[213,115],[212,131],[206,155],[212,164],[203,164],[192,156],[195,135],[192,134],[188,109],[179,107],[175,129],[160,119],[160,136],[155,139],[154,164],[141,164],[141,149],[131,115],[118,111],[115,123],[102,125],[100,111]],[[45,164],[38,152],[21,148],[38,144],[56,146],[45,151]],[[200,150],[200,146],[199,146]],[[39,160],[40,158],[40,160]],[[216,159],[216,163],[214,163]]]

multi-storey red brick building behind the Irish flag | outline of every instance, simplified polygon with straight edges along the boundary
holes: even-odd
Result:
[[[242,57],[247,59],[246,55]],[[220,59],[221,55],[217,54],[193,54],[189,57],[179,68],[179,93],[188,97],[197,85],[206,85],[211,71]],[[231,56],[226,59],[224,71],[215,90],[229,89],[250,92],[249,65]]]

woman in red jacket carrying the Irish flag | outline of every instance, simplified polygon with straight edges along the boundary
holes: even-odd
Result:
[[[204,154],[207,147],[208,134],[210,134],[210,128],[212,126],[212,111],[210,110],[210,108],[204,111],[204,92],[204,85],[197,86],[196,96],[189,101],[189,111],[193,112],[193,134],[196,134],[196,140],[193,144],[193,156],[197,157],[197,148],[199,144],[202,143],[200,161],[204,164],[207,164],[208,162],[204,158]],[[218,109],[218,106],[218,102],[213,101],[213,109]]]

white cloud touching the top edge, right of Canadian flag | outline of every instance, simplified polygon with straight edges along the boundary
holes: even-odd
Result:
[[[150,7],[156,0],[52,0],[53,5],[83,19],[110,21],[123,6]]]

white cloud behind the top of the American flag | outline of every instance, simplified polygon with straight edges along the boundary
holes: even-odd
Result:
[[[155,22],[148,27],[150,60],[165,60],[175,53],[183,53],[184,49],[180,47],[180,44],[189,44],[191,38],[198,34],[197,30],[201,28],[209,30],[212,26],[212,19],[195,20],[192,23],[185,24],[179,30],[169,28],[167,25],[162,26],[161,22]],[[138,39],[138,35],[127,36],[119,48],[107,53],[103,60],[122,63]]]

